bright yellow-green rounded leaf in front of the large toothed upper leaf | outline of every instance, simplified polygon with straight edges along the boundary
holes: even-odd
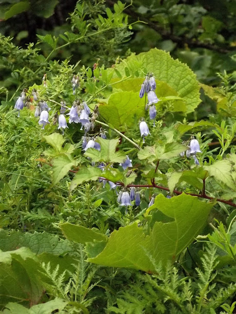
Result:
[[[113,93],[108,102],[100,103],[99,112],[114,128],[122,130],[125,125],[131,127],[144,116],[145,103],[139,93],[118,92]]]

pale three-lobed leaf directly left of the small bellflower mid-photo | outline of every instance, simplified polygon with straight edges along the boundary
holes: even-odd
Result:
[[[92,161],[109,162],[123,162],[126,159],[126,154],[119,150],[115,152],[116,146],[119,144],[119,139],[104,139],[99,138],[97,141],[101,145],[101,151],[95,149],[88,149],[85,156],[90,157]]]

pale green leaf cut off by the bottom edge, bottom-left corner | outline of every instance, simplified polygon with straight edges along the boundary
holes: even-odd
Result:
[[[64,313],[62,311],[64,307],[67,305],[67,302],[55,298],[54,300],[48,301],[46,303],[41,303],[37,305],[33,305],[31,308],[26,308],[25,306],[18,304],[18,303],[13,303],[9,302],[6,305],[6,308],[4,309],[3,313],[4,314],[51,314],[52,312],[56,313]]]

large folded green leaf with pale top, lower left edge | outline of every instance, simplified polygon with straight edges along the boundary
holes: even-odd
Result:
[[[40,278],[43,269],[29,248],[0,252],[0,305],[25,301],[36,304],[44,287]]]

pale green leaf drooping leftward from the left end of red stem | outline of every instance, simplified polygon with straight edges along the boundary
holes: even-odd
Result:
[[[78,184],[82,184],[86,181],[95,181],[99,177],[102,177],[103,171],[96,167],[85,167],[83,166],[75,174],[70,184],[70,191],[74,190]]]

